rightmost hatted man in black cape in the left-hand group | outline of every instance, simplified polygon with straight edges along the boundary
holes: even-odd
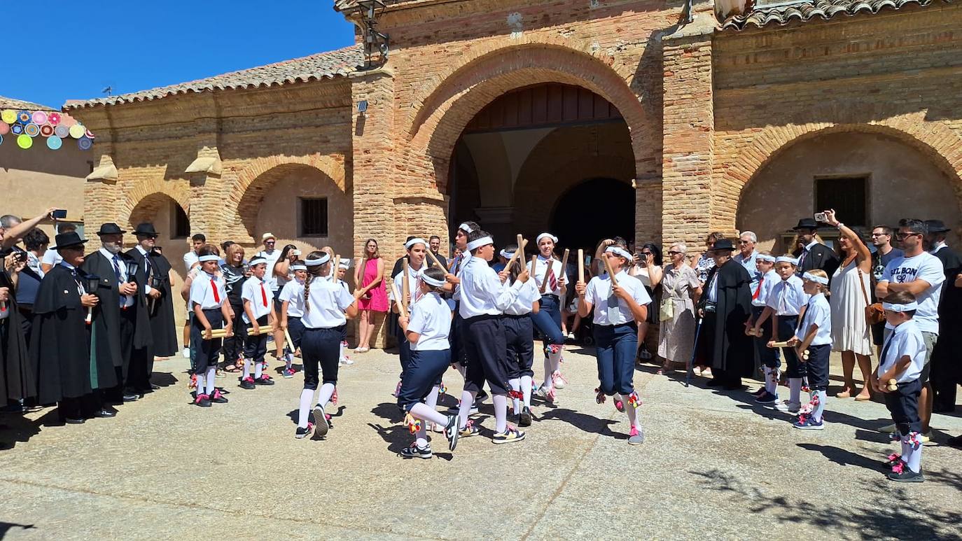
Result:
[[[134,234],[137,235],[137,246],[128,250],[125,256],[137,263],[138,295],[147,307],[151,344],[134,349],[128,387],[142,395],[158,388],[150,382],[154,357],[170,357],[177,353],[177,331],[170,298],[170,263],[164,256],[154,253],[157,232],[153,224],[144,223],[137,226]]]

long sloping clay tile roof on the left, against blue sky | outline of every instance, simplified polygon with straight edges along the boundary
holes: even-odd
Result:
[[[321,79],[344,77],[364,65],[364,52],[359,46],[344,47],[335,51],[318,53],[308,57],[279,61],[240,71],[215,75],[206,79],[160,86],[139,92],[117,94],[86,101],[67,102],[63,109],[81,109],[98,105],[117,105],[123,103],[156,100],[175,94],[205,92],[233,88],[256,88],[258,86],[288,85],[306,83]]]

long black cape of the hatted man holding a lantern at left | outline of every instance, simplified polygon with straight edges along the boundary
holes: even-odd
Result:
[[[95,331],[85,323],[86,317],[75,277],[63,265],[55,265],[40,282],[30,340],[40,404],[81,398],[94,388],[116,384],[110,359],[90,355]]]

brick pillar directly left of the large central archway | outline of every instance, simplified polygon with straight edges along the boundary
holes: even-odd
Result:
[[[359,113],[357,104],[367,101],[367,111]],[[367,238],[376,238],[385,258],[385,280],[394,264],[392,255],[398,244],[400,226],[394,220],[392,190],[398,178],[394,155],[394,79],[387,68],[361,71],[351,75],[353,132],[354,254],[364,253]],[[401,239],[403,240],[403,239]],[[384,317],[375,318],[374,346],[386,346]],[[355,327],[356,330],[356,327]],[[356,331],[355,331],[356,332]]]

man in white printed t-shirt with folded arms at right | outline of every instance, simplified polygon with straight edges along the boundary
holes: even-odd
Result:
[[[875,296],[879,299],[888,297],[889,293],[908,291],[915,295],[919,305],[913,321],[925,341],[925,366],[919,376],[923,385],[922,395],[919,397],[919,417],[922,418],[925,441],[929,434],[928,421],[932,416],[932,388],[928,383],[928,371],[932,348],[939,338],[939,297],[942,294],[942,283],[946,281],[942,261],[924,250],[923,239],[927,233],[928,228],[922,220],[899,220],[899,233],[896,238],[901,243],[904,256],[889,261],[881,280],[875,285]],[[885,332],[888,336],[891,329],[886,327]],[[885,427],[883,430],[889,431],[889,428]]]

